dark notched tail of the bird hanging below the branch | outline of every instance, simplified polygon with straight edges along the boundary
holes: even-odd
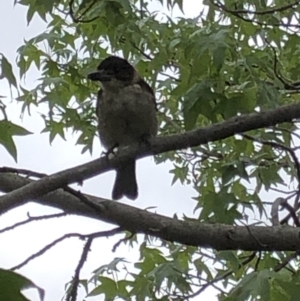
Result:
[[[117,176],[114,184],[112,198],[118,200],[123,196],[135,200],[138,195],[138,187],[135,177],[135,160],[126,161],[117,168]]]

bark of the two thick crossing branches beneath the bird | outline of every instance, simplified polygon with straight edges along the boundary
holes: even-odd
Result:
[[[7,194],[0,197],[0,214],[31,200],[60,208],[70,214],[117,224],[134,233],[142,232],[187,245],[212,247],[218,250],[298,250],[300,230],[297,228],[287,226],[235,227],[185,222],[88,196],[99,207],[99,210],[95,210],[59,188],[111,170],[128,158],[142,158],[151,154],[198,146],[249,130],[291,122],[299,117],[300,103],[266,112],[241,115],[184,134],[157,137],[151,141],[150,146],[134,145],[122,148],[113,159],[97,159],[38,181],[2,173],[0,174],[0,190]]]

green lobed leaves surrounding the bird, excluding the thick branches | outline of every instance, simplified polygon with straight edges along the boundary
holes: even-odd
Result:
[[[82,151],[92,151],[97,87],[86,77],[109,53],[128,58],[155,87],[161,135],[299,99],[299,1],[292,6],[284,0],[206,0],[194,18],[184,15],[182,0],[16,2],[28,7],[29,24],[37,14],[48,27],[19,48],[19,77],[2,55],[1,78],[19,89],[15,101],[23,104],[23,113],[47,106],[43,131],[49,132],[50,142],[57,135],[65,138],[71,129],[80,133]],[[174,13],[179,17],[171,17]],[[20,80],[32,66],[41,77],[28,90]],[[3,115],[0,143],[16,158],[12,136],[28,132]],[[297,124],[283,124],[156,160],[172,161],[173,182],[193,186],[193,218],[199,222],[245,225],[259,219],[270,225],[270,204],[261,199],[263,192],[276,190],[298,209],[296,130]],[[210,285],[217,285],[219,300],[226,301],[296,300],[300,292],[298,263],[289,262],[287,252],[218,252],[154,243],[147,237],[139,251],[134,268],[115,260],[95,272],[93,288],[86,286],[88,296],[187,300]],[[285,260],[288,269],[278,268]],[[126,266],[125,276],[120,264]]]

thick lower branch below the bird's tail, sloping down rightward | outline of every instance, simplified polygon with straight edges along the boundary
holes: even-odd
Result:
[[[29,182],[14,174],[0,174],[0,190],[9,192]],[[38,203],[62,209],[70,214],[95,218],[133,233],[145,233],[186,245],[210,247],[217,250],[296,251],[300,249],[300,229],[289,226],[240,227],[223,224],[185,222],[164,217],[118,202],[87,196],[99,210],[84,205],[62,189],[38,199]]]

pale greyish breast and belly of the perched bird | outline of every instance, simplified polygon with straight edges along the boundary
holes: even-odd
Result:
[[[104,91],[97,115],[99,135],[106,148],[129,145],[157,131],[153,96],[135,85],[119,91]]]

